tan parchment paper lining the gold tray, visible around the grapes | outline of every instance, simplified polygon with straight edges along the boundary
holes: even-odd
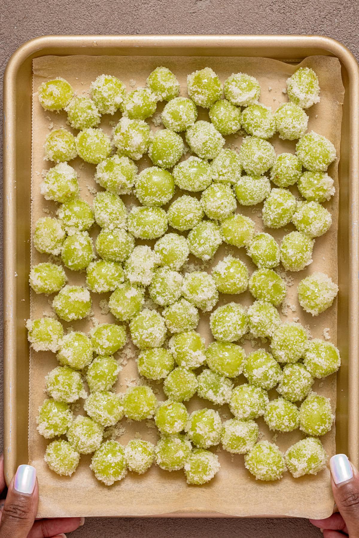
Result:
[[[260,102],[270,105],[275,111],[279,105],[287,101],[283,92],[285,81],[297,66],[279,62],[268,58],[195,58],[182,56],[45,56],[33,60],[33,121],[32,121],[32,226],[41,216],[53,215],[57,204],[46,202],[40,195],[40,183],[44,169],[52,164],[44,160],[43,144],[46,135],[52,128],[66,125],[66,114],[61,112],[44,111],[38,102],[37,88],[45,80],[56,76],[67,79],[78,94],[86,94],[90,82],[102,73],[118,76],[126,83],[128,90],[132,87],[145,84],[146,77],[152,69],[164,65],[173,70],[181,83],[181,95],[186,93],[186,75],[195,69],[205,66],[212,67],[220,76],[222,82],[233,72],[245,72],[257,77],[261,83],[262,93]],[[341,81],[340,63],[335,58],[327,56],[312,56],[300,64],[312,67],[318,74],[321,93],[320,103],[315,104],[307,111],[309,115],[308,130],[314,130],[324,134],[333,141],[337,155],[340,150],[340,131],[342,117],[342,103],[344,88]],[[157,112],[163,109],[159,103]],[[103,116],[101,127],[108,133],[112,125],[117,123],[121,115]],[[208,118],[207,112],[200,109],[199,119]],[[156,119],[155,119],[155,123]],[[152,129],[157,129],[150,121]],[[163,128],[163,125],[160,125]],[[76,132],[74,132],[76,134]],[[238,147],[242,137],[227,137],[226,146]],[[273,139],[277,153],[283,151],[294,152],[295,141],[279,140],[278,136]],[[188,154],[186,155],[186,158]],[[338,159],[329,167],[329,174],[335,181],[336,194],[325,206],[333,216],[333,224],[330,230],[322,237],[315,240],[312,265],[299,273],[286,273],[287,301],[279,308],[283,321],[298,320],[309,328],[313,337],[323,338],[323,334],[330,337],[330,342],[336,342],[336,301],[325,313],[318,317],[312,317],[302,311],[296,298],[297,283],[306,275],[314,271],[323,271],[337,281],[337,208],[339,196],[339,182],[337,177]],[[101,190],[93,179],[95,166],[84,164],[80,159],[75,159],[71,165],[79,174],[81,196],[91,203],[94,192]],[[145,157],[138,162],[139,169],[150,166],[149,158]],[[293,193],[298,193],[294,187]],[[178,193],[176,193],[177,195]],[[126,203],[137,203],[135,199],[126,197]],[[237,211],[253,218],[257,224],[257,230],[263,229],[260,206],[244,208],[239,206]],[[285,229],[267,230],[277,240],[284,233],[292,231],[290,224]],[[98,229],[95,227],[91,235],[95,237]],[[151,243],[153,244],[153,242]],[[32,263],[46,261],[47,256],[39,254],[32,248]],[[233,253],[245,261],[250,272],[255,270],[250,258],[244,249],[236,249],[222,245],[217,251],[213,264],[223,258],[224,255]],[[190,263],[195,262],[194,258]],[[196,263],[201,265],[200,260]],[[191,270],[191,264],[189,270]],[[213,265],[212,264],[212,265]],[[193,269],[193,267],[192,267]],[[210,270],[210,265],[206,267]],[[66,271],[69,283],[85,284],[85,273],[73,273]],[[91,321],[82,320],[71,324],[64,323],[65,330],[72,326],[75,330],[88,331],[97,322],[114,322],[111,314],[106,313],[105,304],[100,300],[108,299],[110,294],[91,294],[93,299],[94,317]],[[51,302],[53,297],[44,298],[32,293],[31,317],[32,319],[42,315],[53,315]],[[235,296],[222,295],[221,301],[235,300],[249,305],[253,299],[249,292]],[[209,315],[201,315],[198,330],[205,336],[207,343],[212,340],[209,331]],[[267,344],[268,345],[268,344]],[[263,346],[256,341],[256,347]],[[252,350],[249,341],[244,345],[247,352]],[[136,369],[136,351],[128,344],[125,349],[117,353],[117,358],[122,361],[123,369],[119,373],[116,390],[124,392],[129,385],[136,383],[138,373]],[[226,515],[256,516],[256,515],[286,515],[311,518],[324,518],[332,513],[333,498],[330,490],[329,470],[325,469],[317,476],[294,479],[289,472],[283,479],[274,483],[256,481],[244,468],[243,456],[231,456],[219,447],[213,451],[219,454],[221,469],[216,477],[207,485],[194,487],[186,484],[182,471],[166,472],[152,465],[145,475],[138,476],[128,473],[121,482],[107,487],[97,482],[93,472],[89,469],[91,456],[81,456],[78,470],[71,478],[62,478],[50,471],[44,462],[43,456],[48,441],[41,437],[36,430],[36,416],[38,407],[42,404],[45,394],[45,375],[57,366],[57,360],[53,353],[34,353],[30,356],[30,420],[29,420],[29,455],[30,464],[36,466],[38,472],[40,502],[40,517],[54,516],[118,516],[118,515],[159,515],[166,513],[185,513],[200,511],[204,514],[218,512]],[[244,377],[238,379],[243,383]],[[164,400],[161,391],[162,384],[149,383],[157,397]],[[335,375],[324,380],[316,380],[313,389],[320,394],[331,398],[333,410],[336,400]],[[276,392],[271,391],[271,398],[276,397]],[[81,401],[81,404],[83,401]],[[214,407],[210,402],[193,398],[187,405],[189,412],[200,407]],[[80,413],[83,413],[80,410]],[[230,417],[227,407],[220,408],[223,420]],[[263,439],[275,441],[281,450],[285,451],[291,444],[302,438],[299,430],[293,433],[276,434],[269,431],[262,419],[258,420],[259,429]],[[133,436],[140,436],[146,440],[156,442],[157,430],[154,429],[153,421],[132,422],[123,419],[121,428],[117,431],[117,440],[125,444]],[[321,438],[329,456],[335,453],[335,428]]]

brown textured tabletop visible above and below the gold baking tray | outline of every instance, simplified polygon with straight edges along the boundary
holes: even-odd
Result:
[[[341,41],[359,58],[359,4],[355,0],[3,0],[1,5],[1,79],[6,62],[16,48],[44,34],[322,34]],[[0,292],[2,301],[1,289]],[[2,379],[1,347],[0,375]],[[298,519],[89,518],[85,526],[71,534],[74,538],[300,538],[302,535],[321,536],[319,529]]]

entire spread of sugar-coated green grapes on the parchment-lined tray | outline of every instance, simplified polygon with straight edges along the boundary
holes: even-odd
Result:
[[[279,479],[286,470],[293,477],[315,474],[326,465],[319,437],[334,416],[329,398],[312,385],[339,368],[339,351],[325,340],[309,339],[300,323],[281,322],[277,307],[286,284],[276,271],[280,263],[296,272],[311,264],[314,238],[332,224],[322,203],[335,194],[326,172],[335,148],[307,132],[306,109],[319,101],[318,77],[310,68],[297,69],[287,80],[288,102],[274,113],[258,102],[258,81],[244,73],[222,85],[206,67],[188,75],[187,91],[188,97],[179,95],[177,77],[166,67],[154,69],[146,87],[129,93],[110,75],[91,83],[90,97],[76,95],[61,78],[38,89],[43,108],[64,109],[68,125],[79,131],[74,136],[54,129],[46,137],[45,158],[54,166],[41,194],[59,207],[57,218],[40,218],[34,228],[34,246],[52,257],[31,268],[30,285],[37,294],[55,294],[54,316],[27,322],[32,348],[57,353],[59,362],[46,376],[48,399],[38,416],[39,433],[52,440],[45,461],[59,475],[71,476],[81,454],[94,453],[91,469],[106,485],[127,470],[144,473],[153,461],[167,471],[184,469],[188,484],[204,484],[220,468],[209,450],[219,443],[231,454],[244,454],[245,467],[261,480]],[[154,132],[146,119],[158,101],[166,102],[164,129]],[[197,120],[198,107],[209,109],[210,122]],[[110,137],[98,125],[103,114],[117,110],[122,117]],[[224,148],[224,137],[238,132],[245,134],[238,151]],[[295,153],[276,155],[268,140],[274,133],[298,139]],[[182,160],[185,143],[192,155]],[[153,166],[138,173],[136,161],[146,153]],[[104,190],[92,207],[81,199],[68,164],[75,157],[96,165],[94,180]],[[288,189],[294,184],[300,199]],[[173,199],[178,189],[185,192]],[[125,206],[121,195],[130,193],[139,206]],[[237,210],[238,204],[261,202],[268,232],[257,233],[255,222]],[[101,230],[94,245],[89,229],[95,223]],[[296,231],[278,245],[270,230],[288,223]],[[154,247],[145,244],[149,239],[156,239]],[[256,270],[250,275],[243,261],[228,255],[208,271],[186,272],[190,253],[206,264],[223,242],[244,249]],[[82,271],[83,286],[67,284],[62,265],[68,274]],[[249,308],[240,297],[247,289],[254,298]],[[298,300],[316,316],[332,305],[337,291],[328,275],[313,272],[300,281]],[[64,332],[59,320],[86,318],[91,294],[107,292],[118,323],[98,324],[89,334]],[[144,307],[145,293],[156,308]],[[216,307],[219,294],[238,300]],[[211,312],[214,342],[207,348],[196,331],[201,312]],[[139,350],[142,382],[116,393],[120,365],[114,354],[128,331]],[[269,339],[269,350],[246,356],[240,345],[245,335]],[[238,384],[242,373],[247,383]],[[166,401],[157,400],[146,379],[163,381]],[[277,397],[270,400],[274,387]],[[184,402],[195,393],[208,405],[228,404],[233,417],[222,422],[211,407],[188,414]],[[71,404],[79,399],[86,415],[74,416]],[[104,440],[106,429],[123,416],[153,417],[160,434],[156,446],[139,438],[126,446]],[[260,416],[270,430],[300,428],[305,437],[283,454],[276,444],[259,440]]]

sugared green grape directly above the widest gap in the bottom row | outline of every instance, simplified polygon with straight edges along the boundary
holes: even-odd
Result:
[[[231,454],[246,454],[256,444],[258,434],[258,425],[254,420],[226,420],[221,435],[222,447]]]

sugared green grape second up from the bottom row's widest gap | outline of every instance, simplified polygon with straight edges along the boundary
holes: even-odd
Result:
[[[263,415],[268,402],[268,394],[263,388],[245,383],[233,389],[229,409],[236,419],[257,419]]]

